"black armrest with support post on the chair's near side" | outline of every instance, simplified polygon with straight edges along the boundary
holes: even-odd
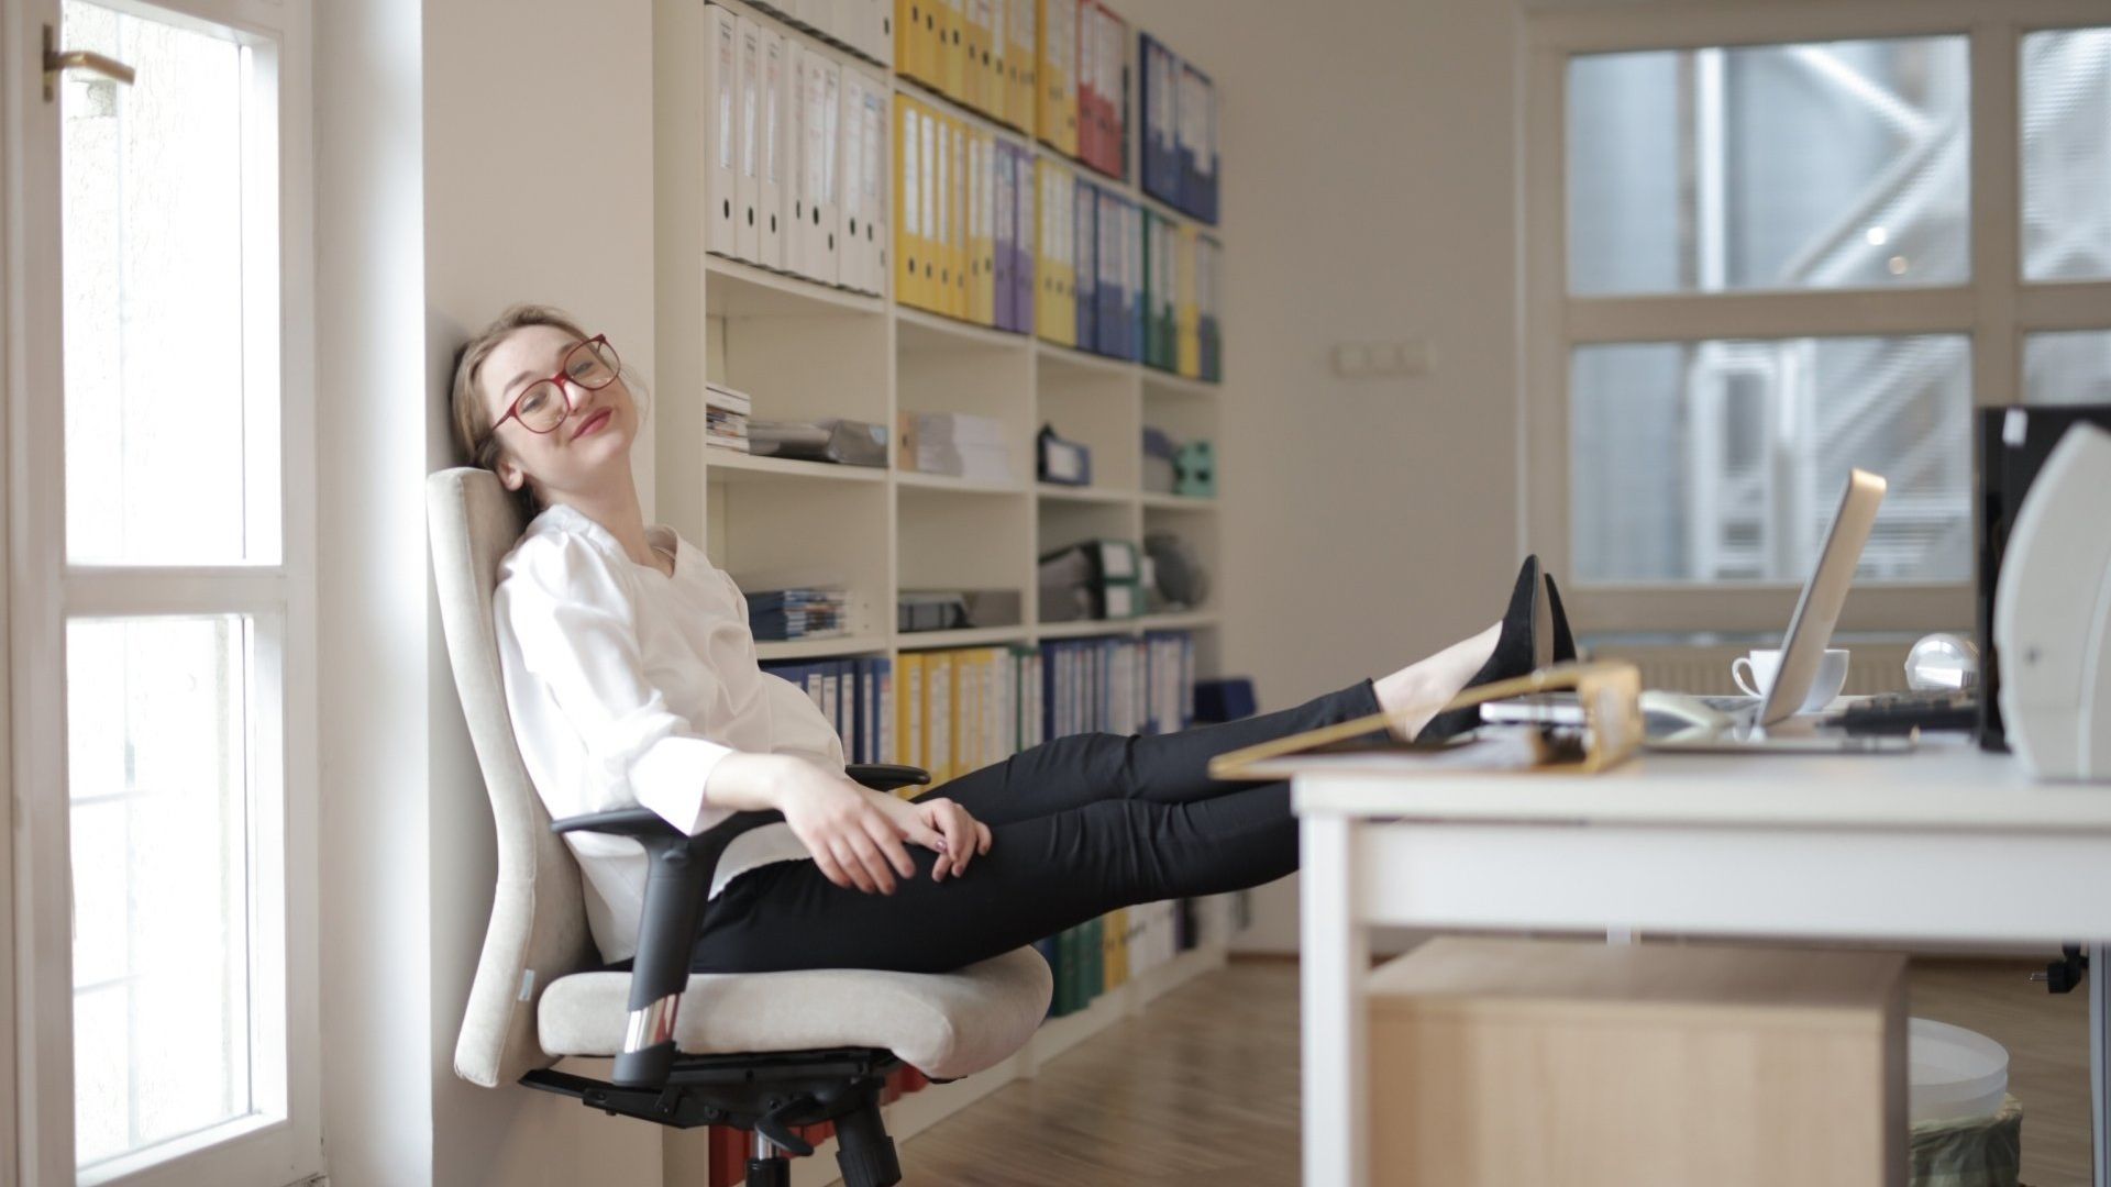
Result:
[[[661,1088],[673,1069],[673,1024],[688,988],[697,915],[718,860],[735,836],[783,819],[781,811],[737,811],[690,836],[648,807],[627,807],[551,822],[551,832],[629,836],[646,847],[646,904],[631,965],[629,1026],[616,1056],[619,1088]]]

